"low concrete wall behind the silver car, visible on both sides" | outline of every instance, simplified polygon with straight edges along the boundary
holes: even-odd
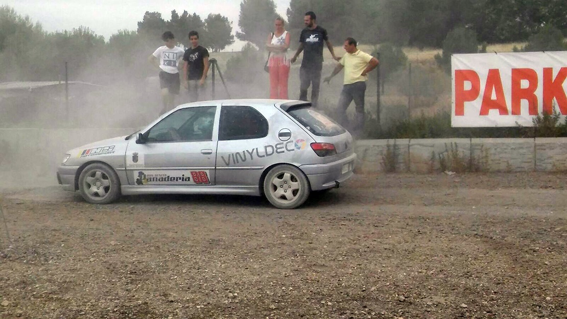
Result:
[[[65,151],[136,129],[0,129],[0,177],[53,175]],[[391,139],[356,145],[360,172],[565,171],[567,138]]]

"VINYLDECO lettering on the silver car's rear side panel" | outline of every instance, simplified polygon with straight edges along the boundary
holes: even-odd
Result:
[[[284,154],[286,152],[296,152],[304,150],[307,142],[304,139],[297,139],[295,141],[280,142],[273,145],[266,145],[262,147],[252,148],[251,150],[244,150],[242,152],[232,153],[226,156],[221,156],[225,165],[230,166],[238,163],[244,163],[247,160],[254,160],[255,158],[268,158],[274,154]]]

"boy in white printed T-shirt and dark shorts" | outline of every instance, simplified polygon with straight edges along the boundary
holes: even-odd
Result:
[[[162,114],[175,107],[175,95],[179,94],[179,62],[185,51],[175,46],[175,36],[171,31],[162,35],[166,45],[160,46],[148,58],[152,65],[159,67],[159,86],[162,88]]]

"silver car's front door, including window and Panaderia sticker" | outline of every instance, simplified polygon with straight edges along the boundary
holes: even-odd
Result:
[[[215,184],[217,107],[176,110],[130,141],[126,174],[134,186]]]

